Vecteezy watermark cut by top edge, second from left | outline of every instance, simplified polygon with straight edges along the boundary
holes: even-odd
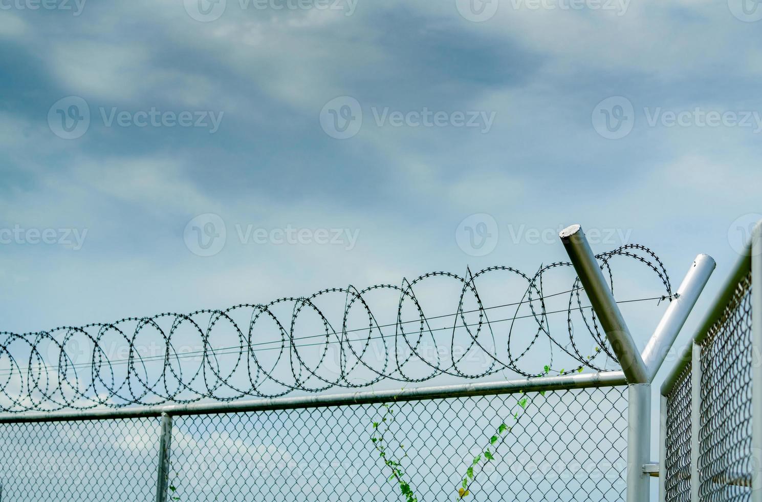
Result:
[[[341,11],[354,14],[359,0],[238,0],[242,11]],[[231,2],[232,3],[232,2]],[[183,0],[185,11],[196,21],[209,22],[221,18],[228,0]]]

